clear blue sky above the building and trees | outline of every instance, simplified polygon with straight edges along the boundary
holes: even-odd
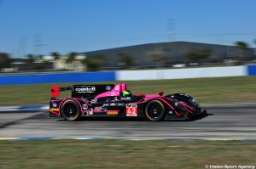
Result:
[[[255,0],[0,0],[0,52],[17,58],[168,41],[255,48],[255,7]]]

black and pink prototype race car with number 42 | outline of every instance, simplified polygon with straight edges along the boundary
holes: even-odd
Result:
[[[61,91],[71,90],[70,98],[57,99]],[[206,114],[195,98],[183,93],[163,95],[137,93],[133,95],[121,84],[73,85],[51,87],[49,116],[78,121],[86,116],[119,116],[163,121],[166,118],[189,119]]]

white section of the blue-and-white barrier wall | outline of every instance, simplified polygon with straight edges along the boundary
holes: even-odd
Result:
[[[172,70],[123,70],[116,72],[116,80],[118,81],[185,79],[220,76],[247,76],[247,67],[229,66]]]

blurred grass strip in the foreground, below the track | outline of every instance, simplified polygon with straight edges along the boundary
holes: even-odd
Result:
[[[205,168],[256,165],[256,144],[240,141],[1,141],[0,168]]]

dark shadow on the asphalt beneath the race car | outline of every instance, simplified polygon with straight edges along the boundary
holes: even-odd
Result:
[[[201,115],[195,115],[190,119],[165,119],[164,121],[199,121],[201,119],[206,118],[209,115],[209,113],[203,113]],[[58,119],[57,121],[66,121],[64,119]],[[107,117],[107,116],[97,116],[97,117],[83,117],[79,119],[79,121],[148,121],[146,118],[134,118],[134,117]]]

